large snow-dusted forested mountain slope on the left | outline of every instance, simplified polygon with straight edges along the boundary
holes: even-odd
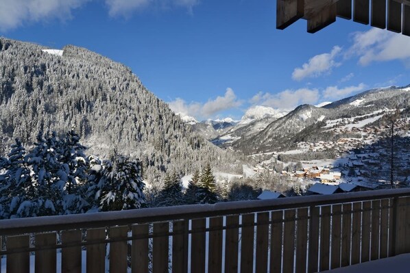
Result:
[[[0,154],[39,131],[79,131],[88,153],[141,159],[145,174],[179,172],[210,161],[230,168],[231,155],[197,135],[149,92],[130,68],[80,47],[62,55],[0,38]]]

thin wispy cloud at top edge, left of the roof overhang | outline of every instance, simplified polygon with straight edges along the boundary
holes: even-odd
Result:
[[[124,17],[128,17],[132,12],[147,8],[150,5],[157,5],[161,8],[186,8],[192,14],[193,7],[199,3],[199,0],[106,0],[110,16]]]

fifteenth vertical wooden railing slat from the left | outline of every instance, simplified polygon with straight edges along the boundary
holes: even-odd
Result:
[[[295,257],[295,209],[285,210],[283,232],[283,272],[293,272]]]

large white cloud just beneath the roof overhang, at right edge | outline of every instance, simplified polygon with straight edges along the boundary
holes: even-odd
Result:
[[[410,39],[402,34],[372,28],[353,34],[353,44],[347,57],[359,56],[359,64],[366,66],[372,62],[410,60]]]

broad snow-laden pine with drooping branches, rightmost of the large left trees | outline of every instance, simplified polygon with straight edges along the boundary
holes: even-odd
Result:
[[[104,169],[100,179],[101,195],[99,205],[102,211],[139,209],[145,205],[141,177],[141,163],[123,155],[117,156],[114,164]]]

